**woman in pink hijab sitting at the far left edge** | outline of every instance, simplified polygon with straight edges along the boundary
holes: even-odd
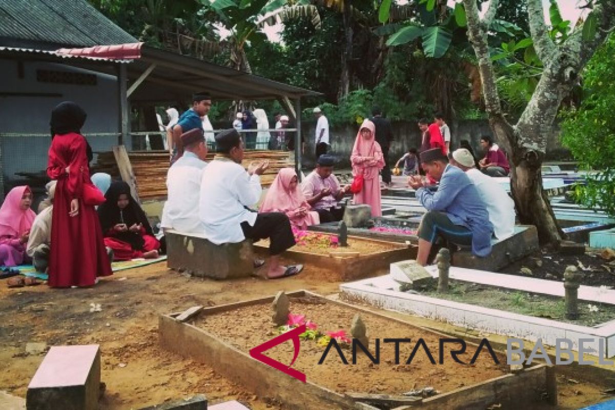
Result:
[[[36,213],[30,209],[32,191],[16,186],[0,208],[0,266],[17,266],[26,256],[26,243]]]

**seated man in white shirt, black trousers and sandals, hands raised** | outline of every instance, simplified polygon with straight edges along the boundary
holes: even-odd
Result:
[[[288,216],[280,212],[256,213],[247,207],[261,197],[260,175],[269,162],[250,164],[246,172],[244,141],[234,128],[216,135],[216,157],[203,171],[199,216],[205,237],[212,243],[255,241],[269,238],[268,278],[296,275],[303,266],[280,265],[280,254],[295,245]]]

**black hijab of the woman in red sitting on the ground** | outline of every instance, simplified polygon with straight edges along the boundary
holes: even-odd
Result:
[[[119,195],[122,194],[128,195],[128,205],[126,205],[123,210],[120,210],[117,206],[117,199]],[[145,216],[145,212],[143,212],[137,201],[130,195],[130,187],[127,183],[124,181],[115,181],[111,183],[111,186],[109,186],[105,194],[105,199],[106,202],[98,207],[98,219],[100,219],[103,234],[117,224],[126,224],[129,228],[133,226],[133,224],[142,224],[148,235],[154,235],[149,225],[148,218]],[[130,246],[132,246],[134,250],[143,250],[145,241],[143,237],[141,237],[141,234],[130,231],[116,232],[114,237],[130,243]]]

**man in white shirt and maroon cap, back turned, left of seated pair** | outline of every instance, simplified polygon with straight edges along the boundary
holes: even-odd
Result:
[[[185,153],[167,173],[167,202],[161,227],[179,232],[203,232],[199,218],[200,177],[207,166],[207,143],[202,128],[181,135]]]

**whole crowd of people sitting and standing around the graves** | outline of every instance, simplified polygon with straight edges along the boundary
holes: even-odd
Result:
[[[252,114],[239,113],[233,128],[213,137],[216,156],[207,163],[208,133],[213,128],[203,117],[211,106],[211,98],[198,93],[192,108],[181,116],[174,108],[167,111],[172,166],[162,213],[164,230],[205,235],[215,244],[269,239],[271,258],[262,276],[282,278],[303,268],[282,266],[280,261],[280,254],[295,245],[293,230],[341,221],[344,196],[352,194],[354,204],[370,205],[371,215],[381,216],[381,189],[391,184],[387,156],[393,132],[378,107],[355,137],[352,184],[342,186],[333,173],[336,158],[327,154],[328,122],[315,108],[314,170],[300,178],[295,169],[282,168],[261,201],[260,176],[269,164],[244,168],[244,150],[250,145],[287,147],[294,141],[284,133],[288,117],[277,114],[275,129],[280,132],[272,133],[265,112],[256,109],[257,131],[250,136],[239,130],[253,129]],[[38,272],[49,274],[52,287],[92,286],[99,277],[111,275],[114,260],[158,258],[161,252],[161,242],[129,185],[111,181],[105,173],[90,176],[92,149],[81,135],[86,117],[70,101],[52,111],[47,167],[52,181],[38,215],[31,209],[33,192],[28,186],[14,187],[0,208],[0,264],[14,267],[32,262]],[[418,229],[417,261],[427,264],[438,241],[471,246],[478,256],[489,254],[493,237],[505,239],[514,232],[514,203],[491,178],[509,173],[506,154],[489,136],[481,138],[485,156],[480,160],[466,140],[450,152],[450,128],[440,114],[431,124],[419,120],[418,126],[421,147],[410,148],[395,164],[395,168],[403,164],[399,173],[409,177],[408,185],[416,189],[417,199],[427,210]],[[435,183],[436,191],[430,189]]]

